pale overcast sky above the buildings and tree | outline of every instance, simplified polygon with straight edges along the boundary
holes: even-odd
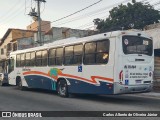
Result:
[[[100,2],[77,14],[56,21],[98,1]],[[109,15],[108,11],[113,7],[131,1],[132,0],[46,0],[45,4],[41,3],[41,18],[42,20],[51,21],[52,27],[93,29],[95,27],[93,24],[94,19],[105,19]],[[160,0],[137,1],[148,2],[154,5],[155,9],[160,9]],[[0,38],[4,36],[9,28],[26,29],[26,26],[33,22],[32,18],[28,15],[31,8],[37,9],[35,0],[1,0]]]

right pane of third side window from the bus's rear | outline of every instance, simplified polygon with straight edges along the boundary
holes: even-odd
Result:
[[[57,48],[56,50],[56,65],[62,65],[63,61],[63,48]]]

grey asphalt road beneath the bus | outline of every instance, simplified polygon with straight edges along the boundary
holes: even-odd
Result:
[[[56,92],[44,90],[20,91],[15,86],[0,87],[0,111],[160,111],[160,98],[141,95],[72,95],[70,98],[61,98]],[[7,118],[0,118],[7,119]],[[20,118],[14,118],[15,120]],[[24,118],[23,118],[24,119]],[[35,118],[37,120],[53,118]],[[56,117],[54,119],[61,120]],[[63,118],[67,120],[94,120],[94,119],[159,119],[145,117],[131,118]],[[13,120],[13,118],[12,118]],[[26,118],[28,120],[28,118]]]

